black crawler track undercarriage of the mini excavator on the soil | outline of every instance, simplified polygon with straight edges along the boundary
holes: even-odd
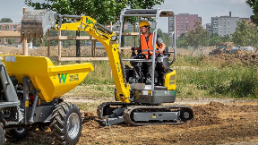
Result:
[[[125,122],[131,125],[184,124],[193,120],[187,106],[160,106],[140,103],[107,102],[99,105],[99,124],[110,126]]]

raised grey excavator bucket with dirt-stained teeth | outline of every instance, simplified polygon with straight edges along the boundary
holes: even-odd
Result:
[[[56,19],[52,11],[27,10],[22,17],[21,43],[25,37],[27,43],[30,42],[30,38],[33,38],[33,43],[35,43],[36,38],[39,38],[40,43],[42,43],[47,30],[55,26]]]

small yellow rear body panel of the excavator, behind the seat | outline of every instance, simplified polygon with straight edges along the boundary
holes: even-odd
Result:
[[[173,70],[171,73],[167,73],[165,77],[165,86],[168,90],[176,90],[176,71]]]

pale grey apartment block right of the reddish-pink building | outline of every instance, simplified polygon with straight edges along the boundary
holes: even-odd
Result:
[[[236,23],[239,17],[229,16],[211,17],[211,35],[218,33],[220,37],[231,35],[236,31]]]

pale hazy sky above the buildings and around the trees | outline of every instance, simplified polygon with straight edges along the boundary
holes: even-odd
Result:
[[[34,0],[33,2],[45,2],[45,0]],[[164,0],[165,3],[155,5],[154,8],[173,10],[175,14],[189,13],[198,14],[202,17],[202,25],[211,23],[211,17],[228,16],[250,18],[253,10],[245,0]],[[22,8],[28,10],[33,8],[24,4],[24,0],[0,0],[0,19],[11,18],[14,22],[22,21]],[[162,19],[161,30],[168,32],[168,19]],[[163,22],[164,21],[164,22]]]

